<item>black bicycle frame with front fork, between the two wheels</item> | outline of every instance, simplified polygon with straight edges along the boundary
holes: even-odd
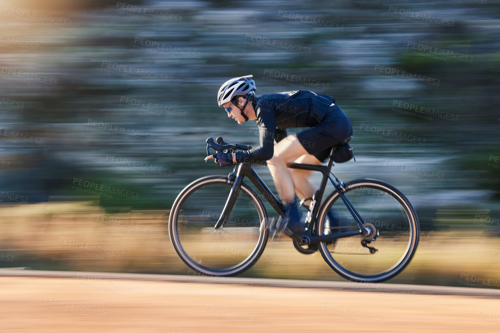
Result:
[[[308,224],[305,226],[307,230],[304,233],[304,236],[302,238],[299,238],[297,236],[294,236],[300,243],[303,245],[314,245],[319,242],[328,242],[332,241],[337,238],[343,238],[343,237],[350,237],[350,236],[355,236],[355,235],[366,235],[369,234],[369,229],[364,228],[363,226],[363,219],[359,215],[359,213],[355,210],[355,208],[352,206],[350,201],[344,196],[343,192],[345,191],[342,182],[338,181],[338,184],[335,183],[333,178],[330,176],[330,170],[331,167],[333,166],[333,152],[336,147],[333,147],[331,149],[330,155],[329,155],[329,160],[326,166],[324,165],[313,165],[313,164],[300,164],[300,163],[286,163],[286,166],[288,168],[294,168],[294,169],[303,169],[303,170],[312,170],[312,171],[319,171],[322,173],[323,177],[321,179],[321,184],[319,186],[319,190],[316,192],[314,195],[314,199],[316,204],[312,207],[312,212],[311,212],[311,217],[310,221]],[[237,170],[236,170],[237,168]],[[236,174],[234,172],[236,171]],[[244,177],[248,177],[250,181],[255,185],[255,187],[258,189],[260,193],[264,196],[264,198],[269,202],[271,207],[278,213],[281,217],[285,217],[285,207],[281,202],[279,201],[278,198],[272,193],[272,191],[265,185],[265,183],[262,181],[262,179],[258,176],[258,174],[255,172],[255,170],[252,168],[250,163],[244,162],[241,164],[238,164],[238,166],[234,167],[233,172],[229,174],[229,183],[232,183],[232,188],[231,191],[229,192],[229,196],[227,198],[227,201],[224,205],[224,208],[222,210],[222,213],[220,214],[220,217],[215,224],[214,229],[218,230],[221,229],[225,222],[227,221],[227,218],[229,217],[232,208],[234,207],[234,204],[236,202],[236,199],[239,195],[239,191],[241,189],[241,183],[243,182]],[[345,231],[345,232],[337,232],[337,233],[331,233],[328,235],[322,235],[322,236],[317,236],[317,235],[312,235],[311,229],[309,226],[314,225],[317,219],[317,213],[319,210],[319,206],[321,204],[321,199],[324,194],[324,189],[326,188],[326,183],[327,180],[330,180],[330,182],[333,184],[333,187],[335,188],[336,192],[342,199],[343,203],[349,210],[350,214],[354,218],[354,221],[356,221],[357,225],[359,226],[359,230],[353,230],[353,231]]]

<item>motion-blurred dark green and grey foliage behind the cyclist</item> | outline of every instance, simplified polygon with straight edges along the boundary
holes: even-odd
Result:
[[[38,47],[2,47],[0,65],[57,79],[56,85],[16,82],[12,75],[0,81],[2,97],[24,103],[22,109],[0,104],[1,128],[43,138],[42,144],[13,143],[2,136],[1,160],[10,162],[9,168],[0,168],[3,191],[24,193],[30,202],[60,195],[79,197],[81,193],[71,189],[73,179],[78,178],[140,193],[137,200],[100,196],[102,207],[167,209],[190,181],[230,171],[203,162],[207,137],[222,135],[225,141],[256,145],[255,125],[238,127],[215,102],[216,91],[227,78],[253,74],[257,94],[303,89],[333,95],[352,121],[351,143],[360,158],[356,164],[336,165],[335,172],[343,180],[379,178],[400,188],[421,212],[420,220],[427,230],[433,228],[438,209],[496,205],[500,173],[488,166],[487,159],[500,155],[500,35],[494,28],[500,16],[498,1],[122,2],[142,8],[137,10],[118,3],[57,0],[10,4],[58,15],[71,20],[71,26],[41,26],[16,19],[26,18],[16,14],[12,14],[14,18],[1,17],[2,34]],[[410,16],[394,13],[390,6],[441,17],[453,21],[454,26],[404,21],[401,18]],[[163,16],[140,13],[145,8]],[[285,12],[294,14],[285,17]],[[306,16],[319,23],[307,22]],[[329,28],[324,22],[335,22],[342,28]],[[265,49],[262,47],[268,45],[251,40],[255,39],[252,34],[310,47],[311,51]],[[141,40],[166,45],[166,50]],[[248,45],[250,41],[256,46]],[[415,49],[409,42],[473,60],[430,52],[412,54],[408,51]],[[190,55],[182,54],[184,49],[190,50]],[[113,69],[113,65],[108,68],[108,64],[127,66],[131,73]],[[376,77],[377,65],[436,78],[440,85],[397,75]],[[143,77],[130,67],[166,75],[167,79]],[[329,88],[278,79],[266,69],[325,82]],[[123,98],[141,100],[161,110],[127,104]],[[434,116],[427,120],[397,113],[394,100],[459,118],[450,121]],[[108,127],[88,125],[91,121]],[[361,132],[363,124],[425,138],[426,142],[395,144],[372,138]],[[111,136],[116,134],[111,128],[149,134],[152,139],[120,133]],[[140,168],[110,163],[107,156],[170,172],[142,174]],[[380,159],[418,165],[443,173],[445,178],[413,180],[378,171]],[[273,188],[266,171],[261,172]],[[446,199],[450,192],[452,201]]]

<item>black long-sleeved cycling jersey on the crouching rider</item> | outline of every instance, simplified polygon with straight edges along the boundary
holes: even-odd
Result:
[[[308,90],[264,94],[252,102],[260,146],[236,152],[236,161],[265,161],[274,154],[274,141],[286,136],[289,127],[314,127],[328,113],[335,98]]]

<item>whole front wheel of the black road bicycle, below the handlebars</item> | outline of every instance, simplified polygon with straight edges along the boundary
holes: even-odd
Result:
[[[244,183],[227,222],[214,229],[231,188],[225,176],[200,178],[180,192],[170,211],[169,232],[175,251],[187,266],[206,275],[246,271],[267,242],[265,207]]]

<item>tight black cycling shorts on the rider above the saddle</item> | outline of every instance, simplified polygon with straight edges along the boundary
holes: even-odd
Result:
[[[331,147],[352,135],[352,125],[349,118],[337,105],[331,105],[328,113],[316,127],[309,128],[297,134],[298,141],[307,153],[324,162]]]

